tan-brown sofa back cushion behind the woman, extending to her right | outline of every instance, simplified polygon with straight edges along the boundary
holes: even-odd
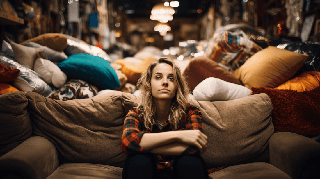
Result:
[[[123,93],[125,112],[135,107],[137,97]],[[272,103],[267,94],[251,95],[229,101],[196,101],[208,148],[202,154],[208,168],[268,161],[268,140],[274,128]]]

